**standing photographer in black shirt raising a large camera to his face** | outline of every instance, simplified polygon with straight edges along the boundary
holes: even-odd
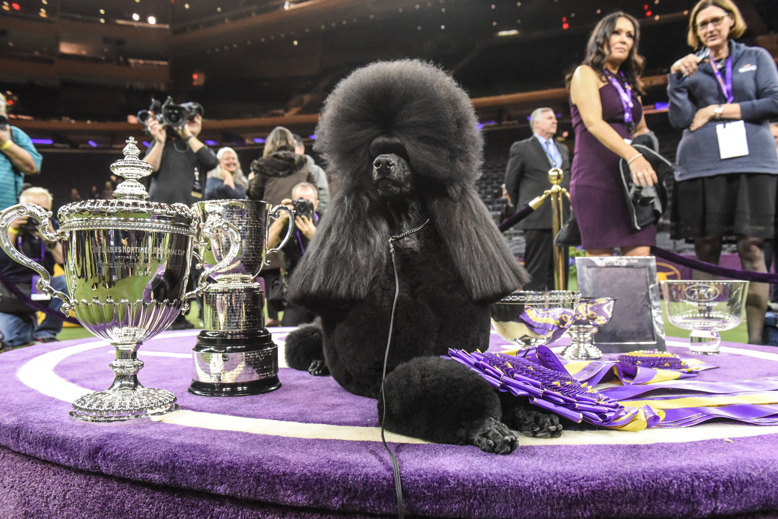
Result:
[[[152,109],[156,104],[152,104]],[[206,172],[219,165],[216,154],[197,138],[202,130],[202,106],[173,105],[168,98],[158,110],[160,113],[149,110],[144,120],[154,138],[154,144],[143,158],[154,171],[149,200],[194,204],[202,200]]]

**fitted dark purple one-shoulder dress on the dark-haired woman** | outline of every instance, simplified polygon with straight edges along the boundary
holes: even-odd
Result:
[[[611,83],[600,89],[602,118],[622,137],[632,138],[624,122],[619,92]],[[633,120],[643,117],[643,105],[633,92]],[[578,108],[570,101],[576,150],[570,177],[570,205],[578,220],[584,249],[621,246],[654,246],[657,231],[649,225],[635,231],[630,225],[619,155],[605,148],[584,125]]]

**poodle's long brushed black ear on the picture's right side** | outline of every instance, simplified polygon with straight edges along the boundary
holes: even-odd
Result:
[[[474,301],[497,301],[530,281],[471,186],[427,202],[446,249]]]

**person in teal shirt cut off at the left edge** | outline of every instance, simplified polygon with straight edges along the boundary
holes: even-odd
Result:
[[[27,134],[8,124],[6,109],[0,94],[0,209],[17,203],[24,176],[37,174],[43,161]]]

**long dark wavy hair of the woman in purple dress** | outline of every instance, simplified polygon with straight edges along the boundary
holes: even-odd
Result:
[[[646,60],[643,59],[643,56],[638,54],[638,44],[640,44],[640,23],[638,23],[634,16],[623,11],[616,11],[601,19],[591,32],[589,43],[586,46],[586,57],[581,64],[589,65],[598,73],[598,75],[600,75],[603,81],[605,81],[605,61],[608,60],[608,54],[605,53],[605,49],[609,48],[608,41],[610,40],[613,31],[616,29],[616,20],[619,18],[628,19],[632,22],[633,27],[635,27],[635,43],[629,51],[629,56],[624,60],[621,67],[619,67],[619,71],[624,73],[624,77],[633,90],[640,95],[643,95],[645,92],[643,92],[643,82],[640,81],[640,74],[643,73],[643,64],[645,64]],[[565,78],[568,89],[572,79],[573,72],[570,72]]]

